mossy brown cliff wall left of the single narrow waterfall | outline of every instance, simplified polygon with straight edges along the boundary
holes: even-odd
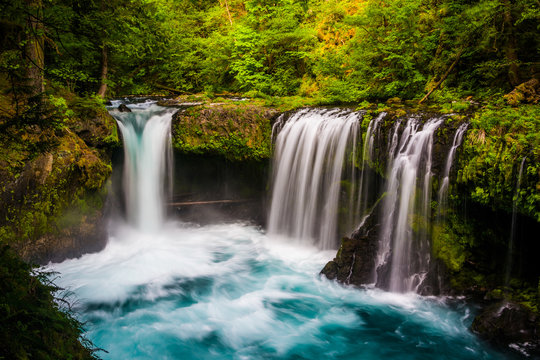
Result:
[[[109,153],[118,144],[116,123],[106,109],[75,101],[60,124],[4,130],[0,242],[34,263],[102,246]]]

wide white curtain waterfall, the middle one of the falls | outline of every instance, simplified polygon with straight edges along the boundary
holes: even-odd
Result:
[[[349,110],[304,109],[278,119],[273,129],[270,234],[323,249],[337,247],[341,183],[356,182],[360,118]],[[346,200],[349,206],[355,202],[351,196],[358,197],[353,192]]]

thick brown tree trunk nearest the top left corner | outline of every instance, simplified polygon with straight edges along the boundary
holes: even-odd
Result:
[[[44,56],[44,27],[42,0],[25,0],[28,7],[26,18],[27,35],[25,55],[28,60],[26,67],[26,86],[30,97],[43,93]]]

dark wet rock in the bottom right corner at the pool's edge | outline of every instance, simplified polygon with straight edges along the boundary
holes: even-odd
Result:
[[[520,304],[503,300],[484,308],[471,329],[496,346],[540,356],[540,319]]]

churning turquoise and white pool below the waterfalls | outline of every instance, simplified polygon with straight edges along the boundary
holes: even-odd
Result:
[[[460,300],[340,286],[334,251],[246,224],[119,227],[50,269],[104,359],[503,359]]]

